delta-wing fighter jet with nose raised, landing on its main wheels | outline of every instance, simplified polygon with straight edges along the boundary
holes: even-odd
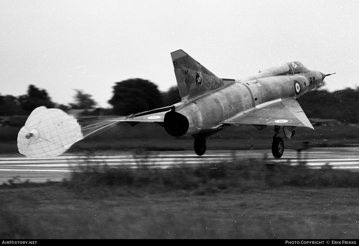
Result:
[[[274,126],[272,154],[284,152],[284,136],[291,139],[297,127],[314,129],[298,98],[318,86],[326,76],[298,61],[260,71],[241,80],[220,79],[181,49],[171,53],[181,102],[127,116],[132,126],[155,122],[174,137],[191,135],[199,156],[206,152],[206,137],[225,127],[251,124],[259,130]]]

